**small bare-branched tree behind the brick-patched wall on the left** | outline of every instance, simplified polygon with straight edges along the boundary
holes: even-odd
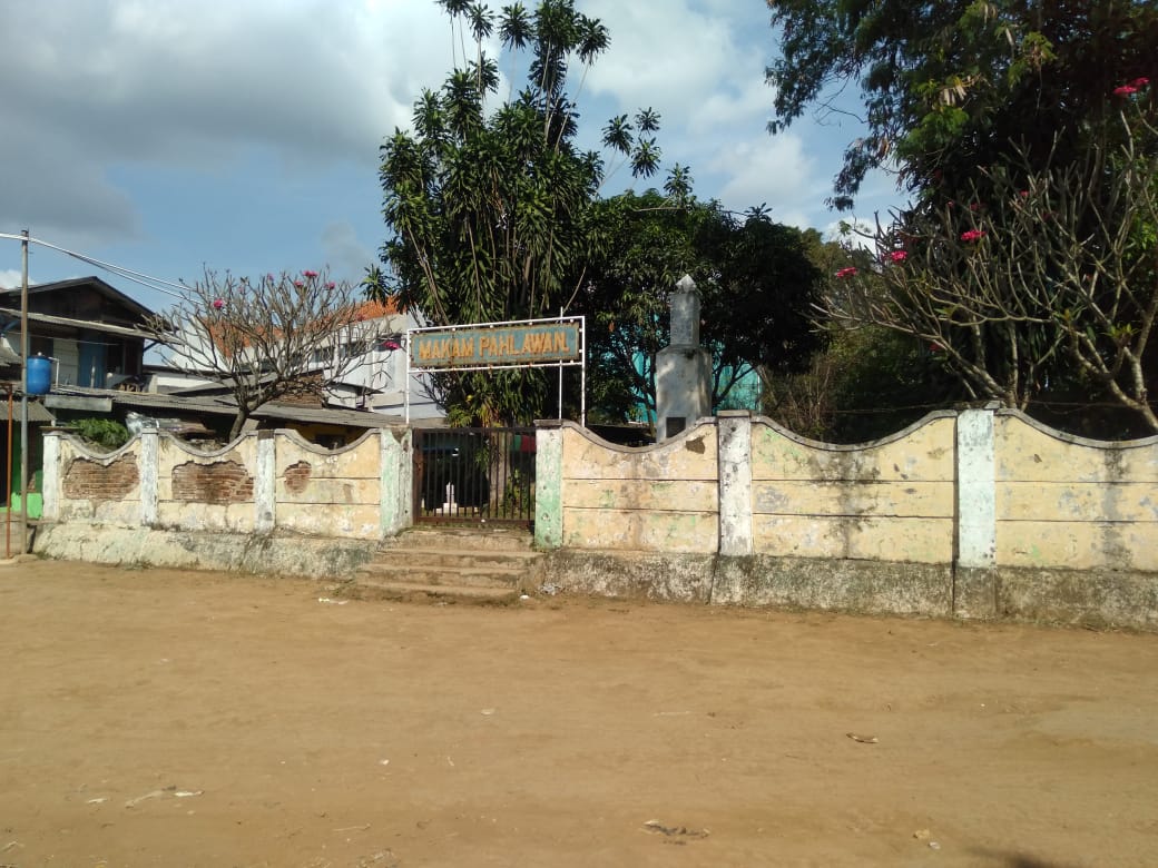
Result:
[[[147,325],[169,363],[227,387],[237,404],[233,440],[262,405],[335,380],[378,337],[360,300],[324,272],[235,278],[207,271]]]

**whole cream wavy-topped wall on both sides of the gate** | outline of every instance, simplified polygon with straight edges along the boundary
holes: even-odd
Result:
[[[412,523],[411,443],[261,432],[198,453],[146,433],[94,455],[52,433],[44,513],[86,559],[146,536],[153,557],[166,531],[174,552],[200,535],[206,562],[259,565],[256,540],[285,531],[362,546],[302,560],[336,569]],[[149,535],[102,549],[102,525]],[[548,582],[579,593],[1158,630],[1158,437],[1099,443],[992,407],[858,446],[745,411],[639,449],[541,422],[535,542]]]

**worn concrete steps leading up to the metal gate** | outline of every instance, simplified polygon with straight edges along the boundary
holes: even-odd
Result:
[[[534,591],[542,554],[526,530],[417,527],[379,546],[343,596],[503,604]]]

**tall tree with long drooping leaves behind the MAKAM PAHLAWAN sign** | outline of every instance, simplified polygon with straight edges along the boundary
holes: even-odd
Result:
[[[514,3],[498,16],[482,3],[440,5],[476,51],[439,91],[423,91],[413,131],[396,130],[382,147],[390,237],[369,289],[434,325],[556,316],[584,284],[592,206],[608,177],[602,157],[576,145],[567,72],[606,50],[607,29],[572,0],[541,0],[533,12]],[[499,74],[483,41],[496,31],[512,62],[529,62],[523,89],[488,111]],[[621,116],[603,144],[647,177],[659,167],[658,127],[650,109]],[[437,385],[455,418],[483,424],[527,421],[547,395],[538,372],[444,374]]]

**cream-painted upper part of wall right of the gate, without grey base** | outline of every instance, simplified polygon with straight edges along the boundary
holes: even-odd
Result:
[[[1158,572],[1158,437],[1087,441],[992,409],[856,446],[743,412],[642,449],[545,433],[547,549]]]

